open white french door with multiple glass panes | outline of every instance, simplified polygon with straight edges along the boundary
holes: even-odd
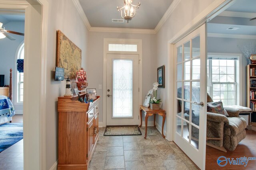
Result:
[[[206,150],[206,24],[175,44],[174,142],[200,168]]]

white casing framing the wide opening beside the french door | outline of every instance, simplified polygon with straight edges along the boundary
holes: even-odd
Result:
[[[172,104],[168,106],[167,112],[168,117],[166,119],[167,129],[166,139],[168,141],[173,141],[174,133],[173,133],[173,121],[174,121],[174,83],[175,83],[175,63],[174,63],[174,44],[180,41],[182,38],[186,37],[186,35],[192,33],[195,29],[200,27],[205,22],[212,20],[214,17],[218,16],[221,12],[226,10],[232,4],[234,4],[237,0],[215,0],[210,6],[208,6],[205,10],[203,10],[198,16],[196,16],[190,23],[188,23],[185,27],[183,27],[178,33],[176,33],[169,41],[168,41],[168,75],[169,80],[168,83],[168,103]],[[172,129],[172,130],[170,130]]]

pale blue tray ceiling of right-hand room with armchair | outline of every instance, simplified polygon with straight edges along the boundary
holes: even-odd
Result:
[[[230,6],[226,12],[250,12],[256,17],[256,0],[239,0]],[[255,16],[254,16],[255,14]],[[251,18],[220,16],[212,19],[207,25],[208,33],[233,34],[233,35],[256,35],[256,20]],[[229,27],[240,27],[237,30],[227,30]]]

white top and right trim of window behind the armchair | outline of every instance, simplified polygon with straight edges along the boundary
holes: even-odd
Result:
[[[236,103],[235,105],[240,105],[242,106],[242,89],[243,89],[243,84],[242,84],[242,54],[238,53],[208,53],[208,57],[225,57],[225,58],[237,58],[236,60]],[[212,83],[212,82],[211,82]]]

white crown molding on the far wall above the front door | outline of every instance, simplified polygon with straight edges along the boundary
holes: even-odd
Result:
[[[89,31],[115,32],[115,33],[148,33],[148,34],[156,33],[154,29],[108,28],[108,27],[91,27]]]

